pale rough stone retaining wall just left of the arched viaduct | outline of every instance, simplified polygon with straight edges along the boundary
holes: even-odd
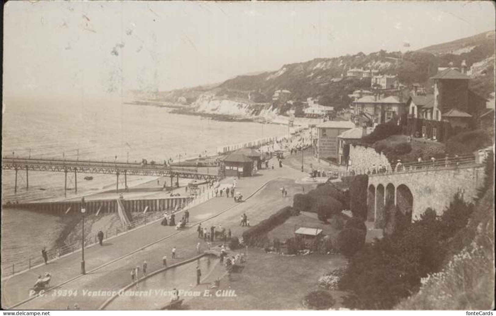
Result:
[[[376,167],[383,165],[386,168],[391,168],[386,156],[382,153],[378,154],[372,147],[350,145],[350,161],[351,165],[348,167],[348,171],[353,170],[356,173],[372,170],[374,164]]]

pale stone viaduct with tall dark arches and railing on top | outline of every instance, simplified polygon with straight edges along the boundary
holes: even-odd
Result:
[[[472,201],[484,180],[484,164],[455,165],[408,172],[369,174],[367,220],[383,228],[385,206],[393,203],[412,220],[432,208],[438,215],[460,192]]]

